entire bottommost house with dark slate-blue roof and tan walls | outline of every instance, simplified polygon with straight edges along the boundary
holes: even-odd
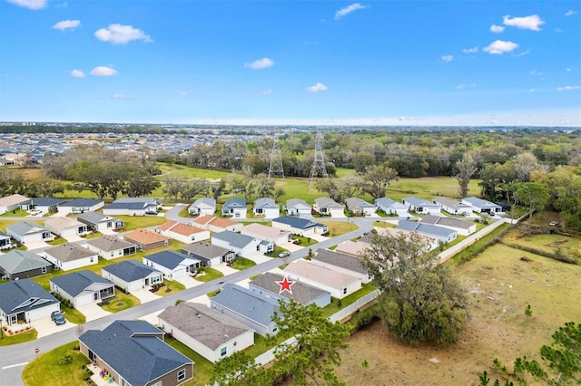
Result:
[[[163,342],[144,321],[118,320],[79,336],[80,351],[118,385],[178,385],[193,378],[193,362]]]

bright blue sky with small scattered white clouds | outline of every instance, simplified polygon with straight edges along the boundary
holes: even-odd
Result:
[[[580,4],[0,0],[0,121],[581,126]]]

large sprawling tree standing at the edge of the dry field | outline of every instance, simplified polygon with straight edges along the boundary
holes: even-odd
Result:
[[[400,339],[456,343],[468,317],[465,291],[417,234],[372,236],[362,265],[378,286],[379,317]]]

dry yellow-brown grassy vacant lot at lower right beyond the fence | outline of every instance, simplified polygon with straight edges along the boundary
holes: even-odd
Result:
[[[400,343],[376,322],[350,338],[340,379],[349,385],[478,385],[478,372],[493,372],[494,358],[506,364],[522,355],[538,360],[551,333],[568,321],[581,321],[579,265],[492,246],[455,268],[455,275],[472,302],[457,345]],[[531,317],[525,315],[527,304]]]

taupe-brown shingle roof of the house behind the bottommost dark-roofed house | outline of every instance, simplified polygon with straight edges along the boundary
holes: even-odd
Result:
[[[167,307],[158,317],[212,350],[252,331],[231,317],[198,303],[182,302]]]

